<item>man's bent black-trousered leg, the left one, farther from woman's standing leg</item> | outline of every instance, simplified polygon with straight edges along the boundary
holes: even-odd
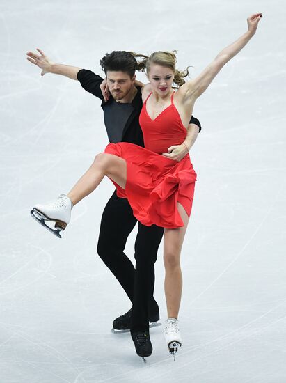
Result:
[[[102,214],[97,253],[133,302],[134,266],[125,255],[127,237],[136,225],[132,208],[125,198],[113,193]]]

